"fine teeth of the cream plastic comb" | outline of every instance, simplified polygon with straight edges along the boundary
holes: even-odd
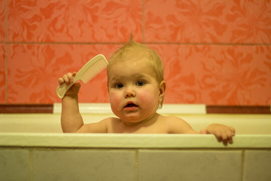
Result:
[[[94,76],[100,73],[104,68],[107,67],[107,63],[101,58],[93,63],[81,76],[84,83],[87,83]]]

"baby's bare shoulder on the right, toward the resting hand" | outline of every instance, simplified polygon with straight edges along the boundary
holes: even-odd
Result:
[[[169,133],[179,134],[197,134],[195,130],[183,119],[176,116],[163,116],[163,120],[166,121]]]

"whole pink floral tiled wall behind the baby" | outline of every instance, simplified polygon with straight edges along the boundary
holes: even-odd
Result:
[[[0,0],[0,103],[54,103],[58,78],[129,34],[165,67],[165,103],[271,105],[271,1]],[[109,102],[103,71],[80,102]]]

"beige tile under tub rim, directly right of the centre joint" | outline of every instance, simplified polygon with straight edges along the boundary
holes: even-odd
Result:
[[[140,150],[139,180],[241,180],[241,151]]]

